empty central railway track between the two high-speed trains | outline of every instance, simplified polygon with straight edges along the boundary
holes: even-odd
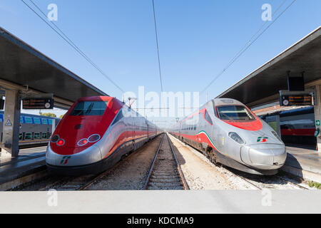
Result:
[[[189,190],[176,158],[173,146],[165,133],[153,159],[145,190]]]

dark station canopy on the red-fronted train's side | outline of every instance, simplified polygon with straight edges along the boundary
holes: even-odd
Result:
[[[0,27],[0,86],[11,83],[39,93],[53,93],[61,104],[78,98],[107,95],[51,58]],[[59,107],[59,105],[55,106]],[[68,105],[67,105],[68,106]]]

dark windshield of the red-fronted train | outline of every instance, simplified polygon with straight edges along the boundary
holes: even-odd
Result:
[[[108,101],[78,101],[70,115],[103,115]]]

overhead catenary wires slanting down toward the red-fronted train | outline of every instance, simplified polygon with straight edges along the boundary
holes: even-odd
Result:
[[[116,88],[118,88],[119,90],[121,90],[121,92],[125,93],[125,91],[124,91],[120,86],[118,86],[115,82],[113,82],[113,80],[111,80],[111,78],[108,77],[108,76],[106,75],[106,73],[104,73],[104,72],[101,70],[101,68],[99,68],[95,63],[93,63],[93,61],[91,61],[91,59],[88,58],[88,56],[86,56],[86,54],[83,53],[83,51],[81,51],[81,49],[78,48],[78,46],[76,46],[76,44],[73,43],[73,41],[71,41],[71,39],[68,38],[68,36],[66,36],[66,34],[63,33],[63,31],[61,31],[60,28],[58,28],[58,26],[56,26],[56,24],[54,24],[53,21],[51,21],[51,24],[54,25],[54,26],[56,27],[56,29],[58,29],[58,31],[57,31],[53,26],[51,26],[51,24],[49,24],[49,22],[46,21],[46,19],[44,19],[41,15],[39,15],[31,6],[29,6],[29,4],[26,3],[26,1],[24,1],[24,0],[21,0],[21,1],[22,1],[26,6],[28,6],[28,8],[31,9],[31,11],[33,11],[34,14],[36,14],[37,16],[39,16],[39,18],[40,18],[42,21],[44,21],[49,27],[51,27],[51,29],[53,29],[59,36],[61,36],[61,38],[63,38],[64,41],[66,41],[66,42],[67,42],[72,48],[74,48],[81,56],[83,56],[83,58],[85,58],[86,61],[88,61],[88,63],[90,63],[94,68],[96,68],[97,71],[99,71],[105,78],[107,78],[108,81],[110,81],[110,82],[113,84],[113,86],[116,86]],[[37,5],[34,3],[34,1],[32,1],[32,0],[29,0],[29,1],[31,1],[31,3],[34,4],[34,6],[36,6],[36,8],[37,8],[39,11],[41,11],[41,9],[39,8],[39,6],[37,6]],[[45,16],[45,18],[46,18],[46,14],[44,14],[44,11],[41,11],[41,14],[43,14],[43,15]],[[60,32],[60,33],[59,33],[59,32]]]

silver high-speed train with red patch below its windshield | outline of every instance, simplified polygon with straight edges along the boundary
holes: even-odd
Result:
[[[274,175],[286,159],[277,133],[238,100],[210,100],[170,133],[214,163],[257,175]]]

